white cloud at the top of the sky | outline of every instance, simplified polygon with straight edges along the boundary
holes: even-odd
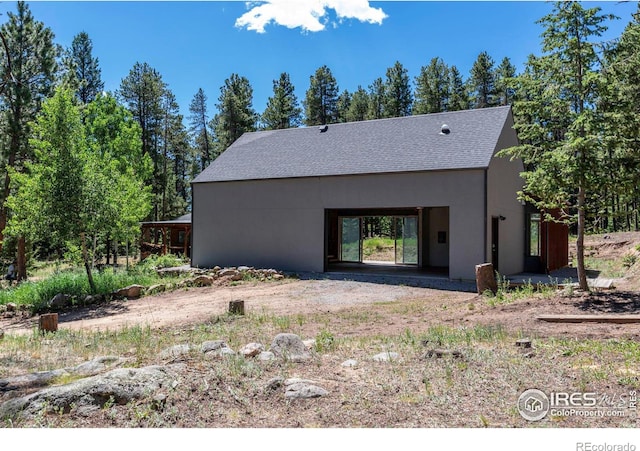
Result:
[[[387,15],[372,8],[368,0],[267,0],[248,3],[250,9],[236,20],[236,27],[265,32],[270,23],[304,31],[322,31],[328,22],[327,9],[333,9],[338,19],[356,19],[381,24]]]

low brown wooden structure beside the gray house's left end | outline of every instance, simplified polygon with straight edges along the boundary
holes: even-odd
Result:
[[[140,259],[151,254],[181,254],[191,256],[191,213],[168,221],[147,221],[140,224]]]

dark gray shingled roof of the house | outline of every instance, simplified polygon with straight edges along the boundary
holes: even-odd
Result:
[[[487,168],[507,120],[509,106],[245,133],[193,183]]]

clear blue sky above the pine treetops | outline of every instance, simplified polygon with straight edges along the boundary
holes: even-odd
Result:
[[[533,1],[295,0],[321,5],[321,10],[322,4],[333,6],[319,14],[317,22],[324,29],[309,31],[304,29],[312,26],[308,11],[305,16],[293,11],[287,0],[272,1],[276,6],[284,2],[285,7],[274,13],[263,32],[252,30],[250,24],[238,26],[239,18],[259,5],[241,1],[28,3],[35,18],[52,29],[56,43],[63,47],[77,33],[89,34],[106,90],[116,90],[136,61],[147,62],[162,74],[185,115],[198,88],[207,94],[213,115],[220,86],[232,73],[249,79],[254,108],[262,112],[272,94],[272,81],[281,72],[290,74],[302,101],[309,77],[324,64],[340,89],[350,92],[384,78],[396,61],[408,69],[412,80],[436,56],[456,65],[466,78],[481,51],[487,51],[496,65],[508,56],[521,70],[530,53],[540,53],[542,28],[535,21],[552,7]],[[362,7],[354,13],[362,20],[338,17],[348,16],[345,4]],[[630,21],[637,3],[585,5],[600,6],[621,17],[610,22],[604,36],[612,39]],[[6,21],[6,11],[15,11],[15,3],[0,3],[0,20]],[[300,26],[288,28],[277,22]]]

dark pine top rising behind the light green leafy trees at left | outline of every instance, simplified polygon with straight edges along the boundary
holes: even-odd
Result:
[[[91,102],[104,89],[98,58],[92,56],[93,43],[84,31],[73,38],[71,48],[65,52],[63,66],[66,83],[76,91],[84,105]]]

